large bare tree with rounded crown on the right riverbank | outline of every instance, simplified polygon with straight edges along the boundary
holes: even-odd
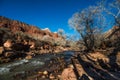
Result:
[[[87,50],[94,50],[95,34],[103,29],[105,18],[102,11],[100,6],[90,6],[81,12],[73,14],[68,21],[69,25],[80,33]]]

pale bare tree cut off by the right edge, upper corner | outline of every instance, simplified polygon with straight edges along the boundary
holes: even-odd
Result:
[[[109,4],[109,9],[105,8],[105,11],[114,17],[115,25],[119,27],[108,36],[110,38],[116,32],[120,31],[120,0],[113,1]]]

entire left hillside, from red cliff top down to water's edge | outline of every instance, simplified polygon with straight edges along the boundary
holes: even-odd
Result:
[[[48,28],[41,30],[36,26],[0,16],[1,59],[31,59],[36,54],[62,52],[64,48],[59,42],[62,43],[63,40],[65,39],[62,36]]]

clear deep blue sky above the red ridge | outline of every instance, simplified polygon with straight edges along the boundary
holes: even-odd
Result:
[[[72,34],[75,31],[68,25],[68,19],[96,1],[100,0],[0,0],[0,16]]]

